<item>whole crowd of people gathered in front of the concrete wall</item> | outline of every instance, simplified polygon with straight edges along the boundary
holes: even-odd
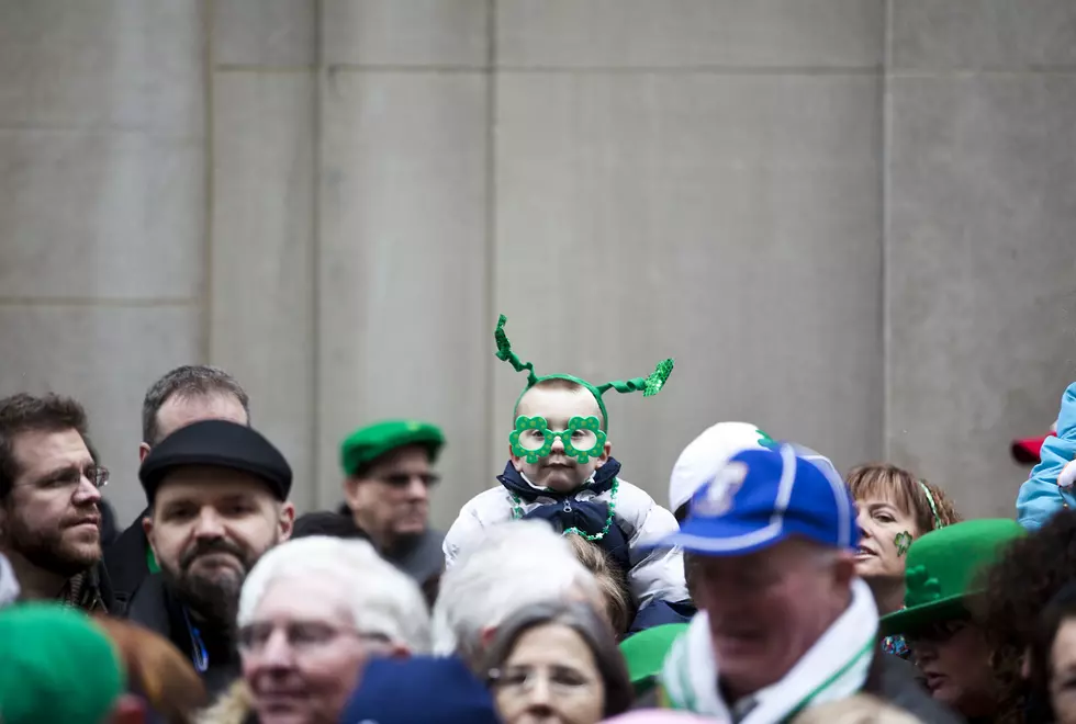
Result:
[[[347,437],[339,507],[296,517],[239,382],[178,367],[117,530],[79,403],[0,399],[0,723],[1076,723],[1076,384],[1012,519],[732,421],[659,501],[604,396],[672,360],[539,375],[504,327],[508,460],[445,533],[428,422]]]

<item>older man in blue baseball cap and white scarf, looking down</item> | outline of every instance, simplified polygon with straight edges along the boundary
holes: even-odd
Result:
[[[832,464],[791,444],[715,454],[724,462],[663,542],[697,557],[699,613],[665,659],[659,700],[773,724],[864,692],[927,724],[957,721],[878,645],[878,610],[855,576],[855,506]]]

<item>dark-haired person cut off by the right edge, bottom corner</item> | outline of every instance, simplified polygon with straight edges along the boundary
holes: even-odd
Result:
[[[1068,584],[1039,616],[1030,674],[1042,721],[1076,723],[1076,584]]]

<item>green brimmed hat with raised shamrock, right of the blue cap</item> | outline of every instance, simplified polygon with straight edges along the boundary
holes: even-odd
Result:
[[[983,519],[946,525],[917,540],[905,564],[905,608],[882,616],[882,635],[963,615],[966,599],[986,591],[982,574],[1024,534],[1013,520]]]

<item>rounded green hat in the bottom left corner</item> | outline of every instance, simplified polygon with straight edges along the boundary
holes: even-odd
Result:
[[[125,688],[112,641],[58,603],[0,611],[0,721],[103,722]]]

